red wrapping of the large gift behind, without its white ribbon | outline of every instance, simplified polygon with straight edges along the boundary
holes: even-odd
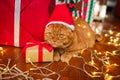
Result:
[[[0,0],[0,44],[14,45],[14,2]],[[44,41],[50,0],[21,0],[20,47],[29,41]]]

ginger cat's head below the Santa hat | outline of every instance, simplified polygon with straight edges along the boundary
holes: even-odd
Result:
[[[73,41],[73,30],[63,24],[50,24],[45,29],[45,42],[54,48],[66,48]]]

